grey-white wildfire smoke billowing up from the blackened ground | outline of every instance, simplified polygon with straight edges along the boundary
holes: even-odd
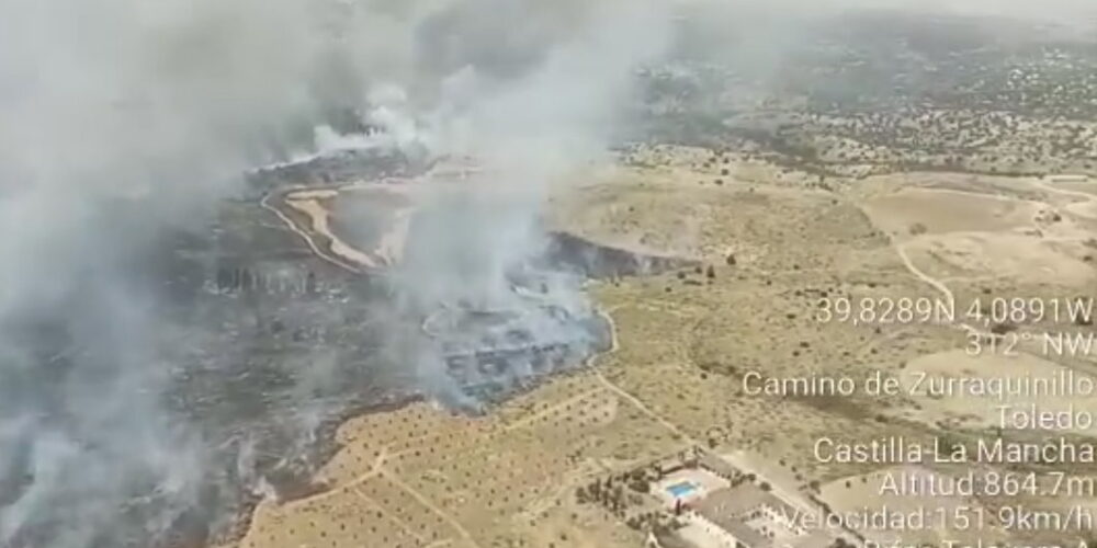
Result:
[[[857,7],[825,4],[766,2]],[[964,5],[1055,19],[1087,8]],[[721,8],[713,21],[749,26],[757,8]],[[157,261],[172,230],[201,228],[257,165],[378,147],[474,158],[483,174],[421,204],[393,275],[395,313],[415,321],[395,331],[488,310],[550,340],[581,336],[559,316],[589,311],[580,281],[538,263],[544,197],[606,153],[635,69],[680,39],[675,10],[657,0],[0,0],[0,546],[147,546],[208,511],[203,479],[222,441],[166,401],[172,379],[194,374],[181,356],[219,327],[168,313],[179,305]],[[759,32],[740,44],[794,39]],[[386,350],[414,364],[425,389],[452,390],[438,352],[415,335],[395,340]],[[287,421],[313,434],[326,409],[310,398],[337,384],[340,366],[324,350],[307,362]],[[253,439],[241,433],[239,444],[235,473],[269,491],[255,477]],[[123,526],[134,523],[144,536]]]

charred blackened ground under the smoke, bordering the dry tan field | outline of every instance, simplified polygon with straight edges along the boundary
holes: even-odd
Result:
[[[389,159],[314,160],[261,172],[252,185],[324,184],[393,165]],[[66,387],[109,381],[122,374],[120,364],[140,359],[155,369],[140,386],[162,410],[155,418],[165,425],[154,434],[158,443],[194,452],[203,465],[199,484],[174,494],[160,489],[163,478],[156,470],[122,467],[125,473],[111,490],[117,500],[66,494],[58,512],[32,517],[4,548],[58,546],[68,520],[91,506],[106,509],[97,536],[87,541],[95,548],[203,546],[234,536],[242,532],[262,486],[282,498],[323,489],[308,478],[338,448],[333,432],[347,418],[422,398],[454,412],[486,412],[546,376],[581,367],[609,344],[609,327],[593,309],[576,316],[546,308],[547,321],[557,322],[555,336],[510,326],[501,339],[490,330],[461,333],[476,344],[454,350],[448,344],[453,333],[422,331],[428,312],[396,309],[396,289],[386,279],[312,256],[251,198],[225,202],[199,228],[150,235],[148,246],[112,263],[127,298],[145,304],[140,329],[113,344],[102,343],[113,336],[103,328],[112,321],[97,317],[112,308],[98,301],[93,287],[5,327],[21,338],[21,347],[33,350],[34,364],[7,374],[0,416],[34,416],[41,426],[83,439],[81,461],[117,461],[118,452],[131,450],[124,425],[106,437],[87,430]],[[528,267],[577,281],[675,264],[566,233],[551,233],[546,241]],[[139,347],[136,357],[131,346]],[[131,418],[134,425],[152,419]],[[15,455],[0,470],[0,507],[19,504],[39,480],[33,456],[19,453],[29,445],[16,439],[7,446]]]

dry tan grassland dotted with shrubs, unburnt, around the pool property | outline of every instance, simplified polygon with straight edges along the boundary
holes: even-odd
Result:
[[[239,546],[640,546],[642,533],[573,493],[690,444],[760,455],[766,473],[838,507],[873,501],[885,467],[821,463],[817,438],[975,435],[988,403],[749,395],[744,376],[1095,373],[1031,347],[1014,361],[965,356],[955,324],[816,319],[824,298],[1092,295],[1092,189],[948,173],[824,182],[671,147],[627,160],[562,187],[554,222],[705,266],[591,284],[615,349],[486,416],[418,404],[348,422],[317,478],[327,489],[262,503]]]

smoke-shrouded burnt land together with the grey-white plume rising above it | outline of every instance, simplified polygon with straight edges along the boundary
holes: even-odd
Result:
[[[540,209],[661,50],[646,3],[5,1],[0,546],[203,544],[309,489],[350,413],[475,410],[581,363],[602,335],[578,271],[538,260]],[[433,199],[378,282],[310,256],[242,176],[308,184],[303,158],[349,149],[398,160],[342,176],[446,155],[493,175]],[[504,320],[428,336],[439,310]],[[495,388],[448,365],[508,336],[574,355]]]

